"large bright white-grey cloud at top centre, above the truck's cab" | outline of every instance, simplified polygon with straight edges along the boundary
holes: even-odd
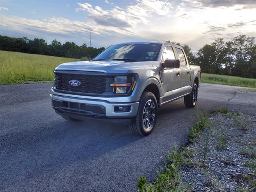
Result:
[[[92,6],[89,3],[77,3],[77,12],[88,12],[88,18],[101,26],[113,26],[120,28],[134,28],[138,24],[147,24],[148,18],[154,16],[166,16],[172,12],[170,2],[166,1],[138,1],[135,5],[124,8],[115,6],[110,10],[103,10],[100,6]]]

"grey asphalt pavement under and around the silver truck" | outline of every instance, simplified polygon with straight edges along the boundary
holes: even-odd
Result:
[[[139,175],[153,180],[160,156],[187,141],[196,109],[237,106],[240,89],[202,84],[196,108],[183,99],[162,106],[155,130],[140,137],[125,126],[62,119],[50,106],[50,87],[0,86],[1,191],[133,192]],[[243,104],[249,112],[255,107],[250,98]]]

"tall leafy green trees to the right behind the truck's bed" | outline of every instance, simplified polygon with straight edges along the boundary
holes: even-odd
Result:
[[[187,44],[180,46],[184,48],[189,63],[199,65],[202,72],[256,78],[255,37],[240,35],[228,42],[217,38],[200,48],[196,56]]]

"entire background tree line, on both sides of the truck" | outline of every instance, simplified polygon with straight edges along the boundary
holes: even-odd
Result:
[[[200,48],[196,56],[187,44],[171,43],[182,46],[190,64],[199,65],[202,72],[256,78],[255,37],[240,35],[228,42],[225,42],[223,38],[217,38],[211,44],[205,44]],[[51,44],[47,44],[44,39],[30,40],[27,37],[13,38],[0,35],[0,50],[6,51],[87,60],[94,58],[104,49],[104,47],[88,47],[86,44],[78,46],[74,42],[61,44],[53,40]]]

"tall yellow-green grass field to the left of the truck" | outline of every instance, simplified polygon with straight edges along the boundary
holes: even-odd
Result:
[[[78,59],[0,51],[0,84],[53,81],[59,64]]]

